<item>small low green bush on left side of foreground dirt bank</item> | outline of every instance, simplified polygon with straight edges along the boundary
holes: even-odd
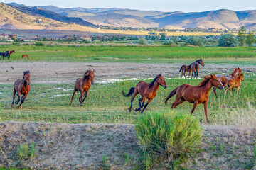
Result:
[[[31,146],[28,146],[28,144],[19,145],[16,154],[19,159],[32,159],[36,157],[37,152],[35,142],[32,142]]]

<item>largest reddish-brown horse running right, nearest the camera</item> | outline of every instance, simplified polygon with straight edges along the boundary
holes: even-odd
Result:
[[[172,103],[171,108],[176,108],[179,104],[183,103],[184,101],[188,101],[189,103],[193,103],[193,108],[191,110],[191,115],[198,104],[203,103],[206,120],[208,120],[207,116],[207,106],[208,106],[208,99],[209,99],[209,92],[212,86],[218,87],[218,89],[224,89],[223,84],[220,82],[218,77],[215,74],[212,74],[208,77],[204,77],[204,80],[198,84],[198,86],[191,86],[189,84],[182,84],[181,86],[176,87],[169,96],[165,99],[165,104],[169,98],[176,94],[176,98],[174,103]]]

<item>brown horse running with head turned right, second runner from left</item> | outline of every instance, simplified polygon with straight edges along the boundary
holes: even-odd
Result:
[[[94,77],[95,77],[94,72],[95,72],[95,70],[92,71],[92,70],[89,69],[85,72],[85,74],[83,75],[82,78],[78,78],[75,81],[75,87],[74,87],[73,96],[71,98],[70,105],[72,104],[73,98],[75,96],[75,92],[80,91],[80,97],[79,97],[78,105],[82,106],[82,103],[85,101],[85,98],[87,98],[88,91],[90,89],[91,84],[94,84]],[[82,100],[82,96],[84,94],[85,94],[85,98]]]

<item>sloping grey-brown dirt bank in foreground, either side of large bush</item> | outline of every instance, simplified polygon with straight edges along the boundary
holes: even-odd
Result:
[[[203,144],[188,169],[251,169],[255,129],[203,126]],[[36,142],[37,157],[18,161],[17,145]],[[0,167],[32,169],[133,169],[138,164],[134,125],[16,123],[0,124]],[[127,156],[128,155],[128,156]]]

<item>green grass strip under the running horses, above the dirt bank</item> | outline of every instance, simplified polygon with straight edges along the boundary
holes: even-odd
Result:
[[[151,80],[149,80],[151,81]],[[172,89],[184,83],[197,85],[201,80],[193,79],[166,79],[167,89],[159,88],[156,98],[149,104],[145,112],[171,110],[174,97],[169,100],[169,106],[164,105],[164,98]],[[136,123],[140,113],[135,112],[138,99],[134,99],[133,109],[128,113],[130,98],[124,98],[121,91],[129,91],[138,81],[121,81],[113,84],[97,84],[91,87],[88,97],[82,106],[77,106],[79,93],[75,95],[73,105],[70,106],[70,98],[73,92],[73,84],[31,84],[31,91],[19,110],[10,108],[12,101],[12,84],[0,84],[0,118],[2,120],[37,121],[54,123]],[[218,98],[210,91],[208,102],[208,117],[211,123],[222,123],[228,119],[224,114],[235,114],[235,109],[248,108],[248,103],[256,107],[256,79],[252,74],[245,74],[242,82],[242,94],[224,98],[224,91],[217,90]],[[63,95],[63,96],[55,96]],[[191,103],[182,103],[175,111],[189,114]],[[220,116],[221,115],[221,116]],[[203,105],[198,105],[193,116],[205,123]],[[226,121],[228,122],[228,121]]]

